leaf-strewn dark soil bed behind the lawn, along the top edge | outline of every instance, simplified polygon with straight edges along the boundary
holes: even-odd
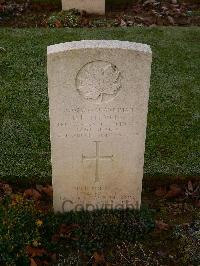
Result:
[[[59,14],[61,6],[49,3],[0,0],[0,26],[48,27],[49,17]],[[93,21],[96,21],[93,23]],[[110,26],[200,26],[200,3],[172,4],[147,0],[121,8],[108,8],[105,16],[80,14],[79,27]],[[52,25],[51,25],[52,26]],[[56,23],[53,27],[62,27]],[[77,25],[75,25],[77,26]]]

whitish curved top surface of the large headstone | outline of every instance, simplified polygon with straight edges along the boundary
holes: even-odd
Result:
[[[147,44],[128,42],[128,41],[118,41],[118,40],[82,40],[59,43],[55,45],[50,45],[47,47],[48,54],[55,54],[64,52],[66,50],[76,50],[76,49],[127,49],[134,50],[142,53],[151,54],[151,48]]]

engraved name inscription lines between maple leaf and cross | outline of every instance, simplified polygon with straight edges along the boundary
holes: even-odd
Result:
[[[61,137],[70,138],[107,138],[125,137],[127,127],[134,121],[133,107],[65,109],[65,121],[57,121]]]

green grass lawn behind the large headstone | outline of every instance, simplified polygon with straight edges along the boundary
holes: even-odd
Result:
[[[151,45],[145,175],[200,175],[200,28],[2,28],[0,178],[51,180],[46,47],[81,39]]]

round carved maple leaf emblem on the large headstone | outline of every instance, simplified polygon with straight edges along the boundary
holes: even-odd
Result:
[[[112,100],[121,88],[121,75],[109,62],[95,61],[86,64],[76,78],[79,94],[94,103]]]

